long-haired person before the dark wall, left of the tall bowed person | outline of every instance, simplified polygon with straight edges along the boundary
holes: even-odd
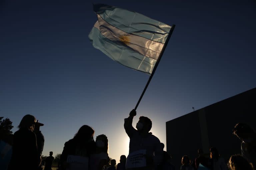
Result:
[[[215,147],[210,148],[210,169],[211,170],[226,170],[227,164],[225,160],[220,157],[220,154]]]

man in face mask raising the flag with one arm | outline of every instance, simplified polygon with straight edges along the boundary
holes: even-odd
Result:
[[[133,109],[129,117],[124,120],[125,132],[130,138],[129,143],[129,155],[127,157],[128,162],[131,155],[139,152],[146,159],[146,167],[133,167],[132,169],[146,169],[153,170],[157,169],[162,164],[163,149],[160,140],[154,136],[150,131],[152,122],[149,118],[141,116],[136,125],[136,128],[132,127],[133,117],[136,116],[136,111]],[[146,152],[146,154],[144,154]],[[128,169],[128,163],[126,163],[126,169]]]

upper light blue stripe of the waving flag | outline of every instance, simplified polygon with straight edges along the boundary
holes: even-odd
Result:
[[[96,4],[93,6],[93,10],[118,29],[156,42],[164,43],[171,29],[171,26],[137,12],[110,5]]]

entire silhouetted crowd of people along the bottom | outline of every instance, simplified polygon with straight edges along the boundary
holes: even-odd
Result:
[[[130,138],[129,155],[120,156],[120,163],[108,155],[108,137],[105,134],[96,136],[94,129],[83,125],[72,139],[65,142],[58,170],[175,170],[171,163],[172,157],[164,151],[164,144],[150,131],[152,121],[144,116],[139,118],[136,129],[132,126],[136,111],[132,110],[129,117],[124,119],[124,129]],[[32,115],[25,115],[14,135],[12,155],[7,166],[1,165],[1,170],[51,170],[54,160],[53,152],[42,161],[44,136],[40,131],[43,124],[36,121]],[[238,123],[233,134],[241,139],[241,155],[232,155],[228,162],[220,156],[215,147],[210,148],[210,154],[204,154],[198,149],[198,157],[191,160],[184,155],[181,158],[181,170],[254,170],[256,167],[256,133],[253,128],[244,123]],[[6,142],[0,138],[1,144]],[[9,143],[9,144],[8,144]],[[5,147],[1,149],[1,159],[6,155]],[[176,167],[179,169],[179,167]]]

